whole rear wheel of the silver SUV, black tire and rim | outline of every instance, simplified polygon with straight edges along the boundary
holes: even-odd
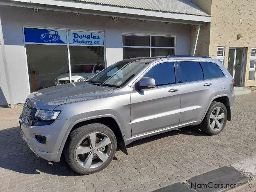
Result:
[[[199,128],[209,134],[217,135],[224,129],[228,117],[226,106],[223,103],[214,101],[206,113]]]

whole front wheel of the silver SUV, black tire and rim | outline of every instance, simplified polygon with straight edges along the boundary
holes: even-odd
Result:
[[[101,123],[92,123],[70,133],[64,153],[71,169],[87,175],[105,169],[116,150],[117,139],[112,130]]]

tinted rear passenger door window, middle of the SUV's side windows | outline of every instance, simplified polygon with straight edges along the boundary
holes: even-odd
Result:
[[[203,80],[203,69],[199,62],[179,62],[180,82]]]

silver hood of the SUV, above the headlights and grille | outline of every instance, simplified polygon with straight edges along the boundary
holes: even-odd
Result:
[[[85,101],[110,95],[114,89],[85,82],[48,87],[28,96],[27,105],[37,109],[53,110],[58,105]]]

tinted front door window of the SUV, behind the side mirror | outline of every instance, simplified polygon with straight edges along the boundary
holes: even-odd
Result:
[[[169,85],[175,83],[174,62],[160,63],[153,66],[144,77],[155,79],[155,85]]]

